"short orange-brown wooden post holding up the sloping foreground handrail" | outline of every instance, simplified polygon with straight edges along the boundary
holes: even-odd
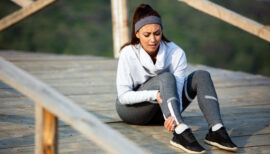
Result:
[[[36,103],[35,118],[35,153],[57,154],[57,117]]]

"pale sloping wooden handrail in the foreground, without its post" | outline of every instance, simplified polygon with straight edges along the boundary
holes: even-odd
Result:
[[[0,79],[70,124],[109,153],[145,153],[93,114],[3,58],[0,58]]]

